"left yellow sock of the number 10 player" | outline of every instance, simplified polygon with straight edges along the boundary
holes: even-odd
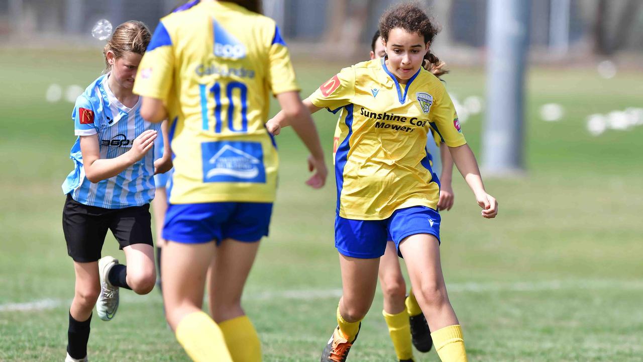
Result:
[[[183,317],[176,326],[176,339],[194,362],[232,362],[221,329],[204,312]]]

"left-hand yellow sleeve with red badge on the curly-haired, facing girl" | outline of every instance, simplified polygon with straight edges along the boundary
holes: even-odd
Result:
[[[328,108],[336,112],[343,106],[352,103],[355,96],[355,70],[343,68],[340,73],[321,84],[308,99],[317,107]]]

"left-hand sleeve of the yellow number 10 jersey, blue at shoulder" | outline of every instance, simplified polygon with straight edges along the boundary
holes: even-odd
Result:
[[[161,99],[167,104],[174,73],[174,46],[163,22],[159,22],[134,81],[134,93]]]

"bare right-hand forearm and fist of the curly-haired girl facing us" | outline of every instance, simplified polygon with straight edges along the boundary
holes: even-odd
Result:
[[[482,207],[482,216],[488,219],[496,217],[496,214],[498,214],[498,201],[485,191],[478,162],[476,162],[476,157],[473,155],[469,145],[463,144],[458,147],[449,147],[449,151],[451,151],[455,166],[458,167],[462,177],[469,184],[478,205]]]

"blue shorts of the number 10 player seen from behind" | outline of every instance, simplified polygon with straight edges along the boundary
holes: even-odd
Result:
[[[271,202],[208,202],[170,204],[163,238],[177,243],[207,243],[232,238],[257,242],[268,235]]]

